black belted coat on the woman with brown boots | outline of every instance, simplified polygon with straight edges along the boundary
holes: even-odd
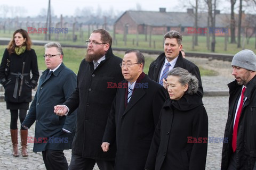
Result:
[[[23,77],[22,82],[22,91],[19,96],[21,77],[17,75],[12,75],[9,73],[8,77],[5,77],[4,69],[6,67],[7,58],[10,60],[10,72],[12,73],[22,73],[23,62],[25,63],[25,67],[23,73],[25,75]],[[32,72],[32,78],[30,78],[30,71]],[[18,79],[17,79],[18,78]],[[25,52],[21,55],[17,55],[13,53],[9,56],[7,49],[4,51],[4,55],[2,58],[2,63],[0,65],[0,80],[4,86],[5,93],[4,99],[7,102],[12,103],[29,103],[32,100],[32,88],[34,89],[37,85],[37,81],[39,78],[38,66],[37,66],[37,56],[34,49],[25,50]],[[18,80],[18,81],[17,81]],[[17,98],[13,97],[15,82],[18,83],[17,90]]]

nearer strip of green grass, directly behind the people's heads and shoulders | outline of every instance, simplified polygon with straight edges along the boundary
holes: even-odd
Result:
[[[6,46],[1,45],[0,46],[0,55],[3,55],[4,49]],[[33,49],[35,49],[36,55],[37,55],[37,61],[38,61],[38,69],[39,70],[45,70],[45,63],[44,63],[44,47],[43,46],[32,46]],[[83,58],[85,57],[86,54],[86,49],[83,48],[63,48],[63,63],[69,67],[71,70],[73,70],[76,74],[79,69],[79,65]],[[119,56],[123,58],[124,52],[115,52],[116,56]],[[144,67],[144,72],[148,73],[148,68],[151,62],[155,60],[157,56],[149,56],[145,54],[145,67]],[[216,75],[217,72],[212,71],[212,70],[206,70],[203,67],[199,66],[201,76],[203,75]]]

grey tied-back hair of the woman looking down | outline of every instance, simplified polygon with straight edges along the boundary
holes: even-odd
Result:
[[[198,79],[195,77],[195,75],[191,75],[186,69],[177,67],[172,69],[168,75],[179,77],[179,82],[182,85],[188,84],[188,90],[186,91],[187,94],[193,95],[197,92]]]

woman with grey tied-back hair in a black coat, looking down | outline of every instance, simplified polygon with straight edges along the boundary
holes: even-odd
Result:
[[[187,70],[168,73],[166,100],[155,129],[145,169],[205,169],[208,118],[198,80]]]

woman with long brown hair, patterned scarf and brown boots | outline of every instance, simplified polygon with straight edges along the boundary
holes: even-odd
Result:
[[[4,51],[0,65],[0,82],[5,89],[4,99],[6,101],[6,108],[10,109],[11,112],[10,129],[13,156],[19,156],[18,117],[20,117],[21,124],[25,120],[29,102],[32,100],[32,89],[37,86],[39,78],[37,56],[35,50],[31,49],[31,44],[27,31],[23,29],[16,30]],[[30,71],[32,77],[30,77]],[[22,156],[28,156],[28,130],[22,126],[20,128],[20,136],[21,154]]]

